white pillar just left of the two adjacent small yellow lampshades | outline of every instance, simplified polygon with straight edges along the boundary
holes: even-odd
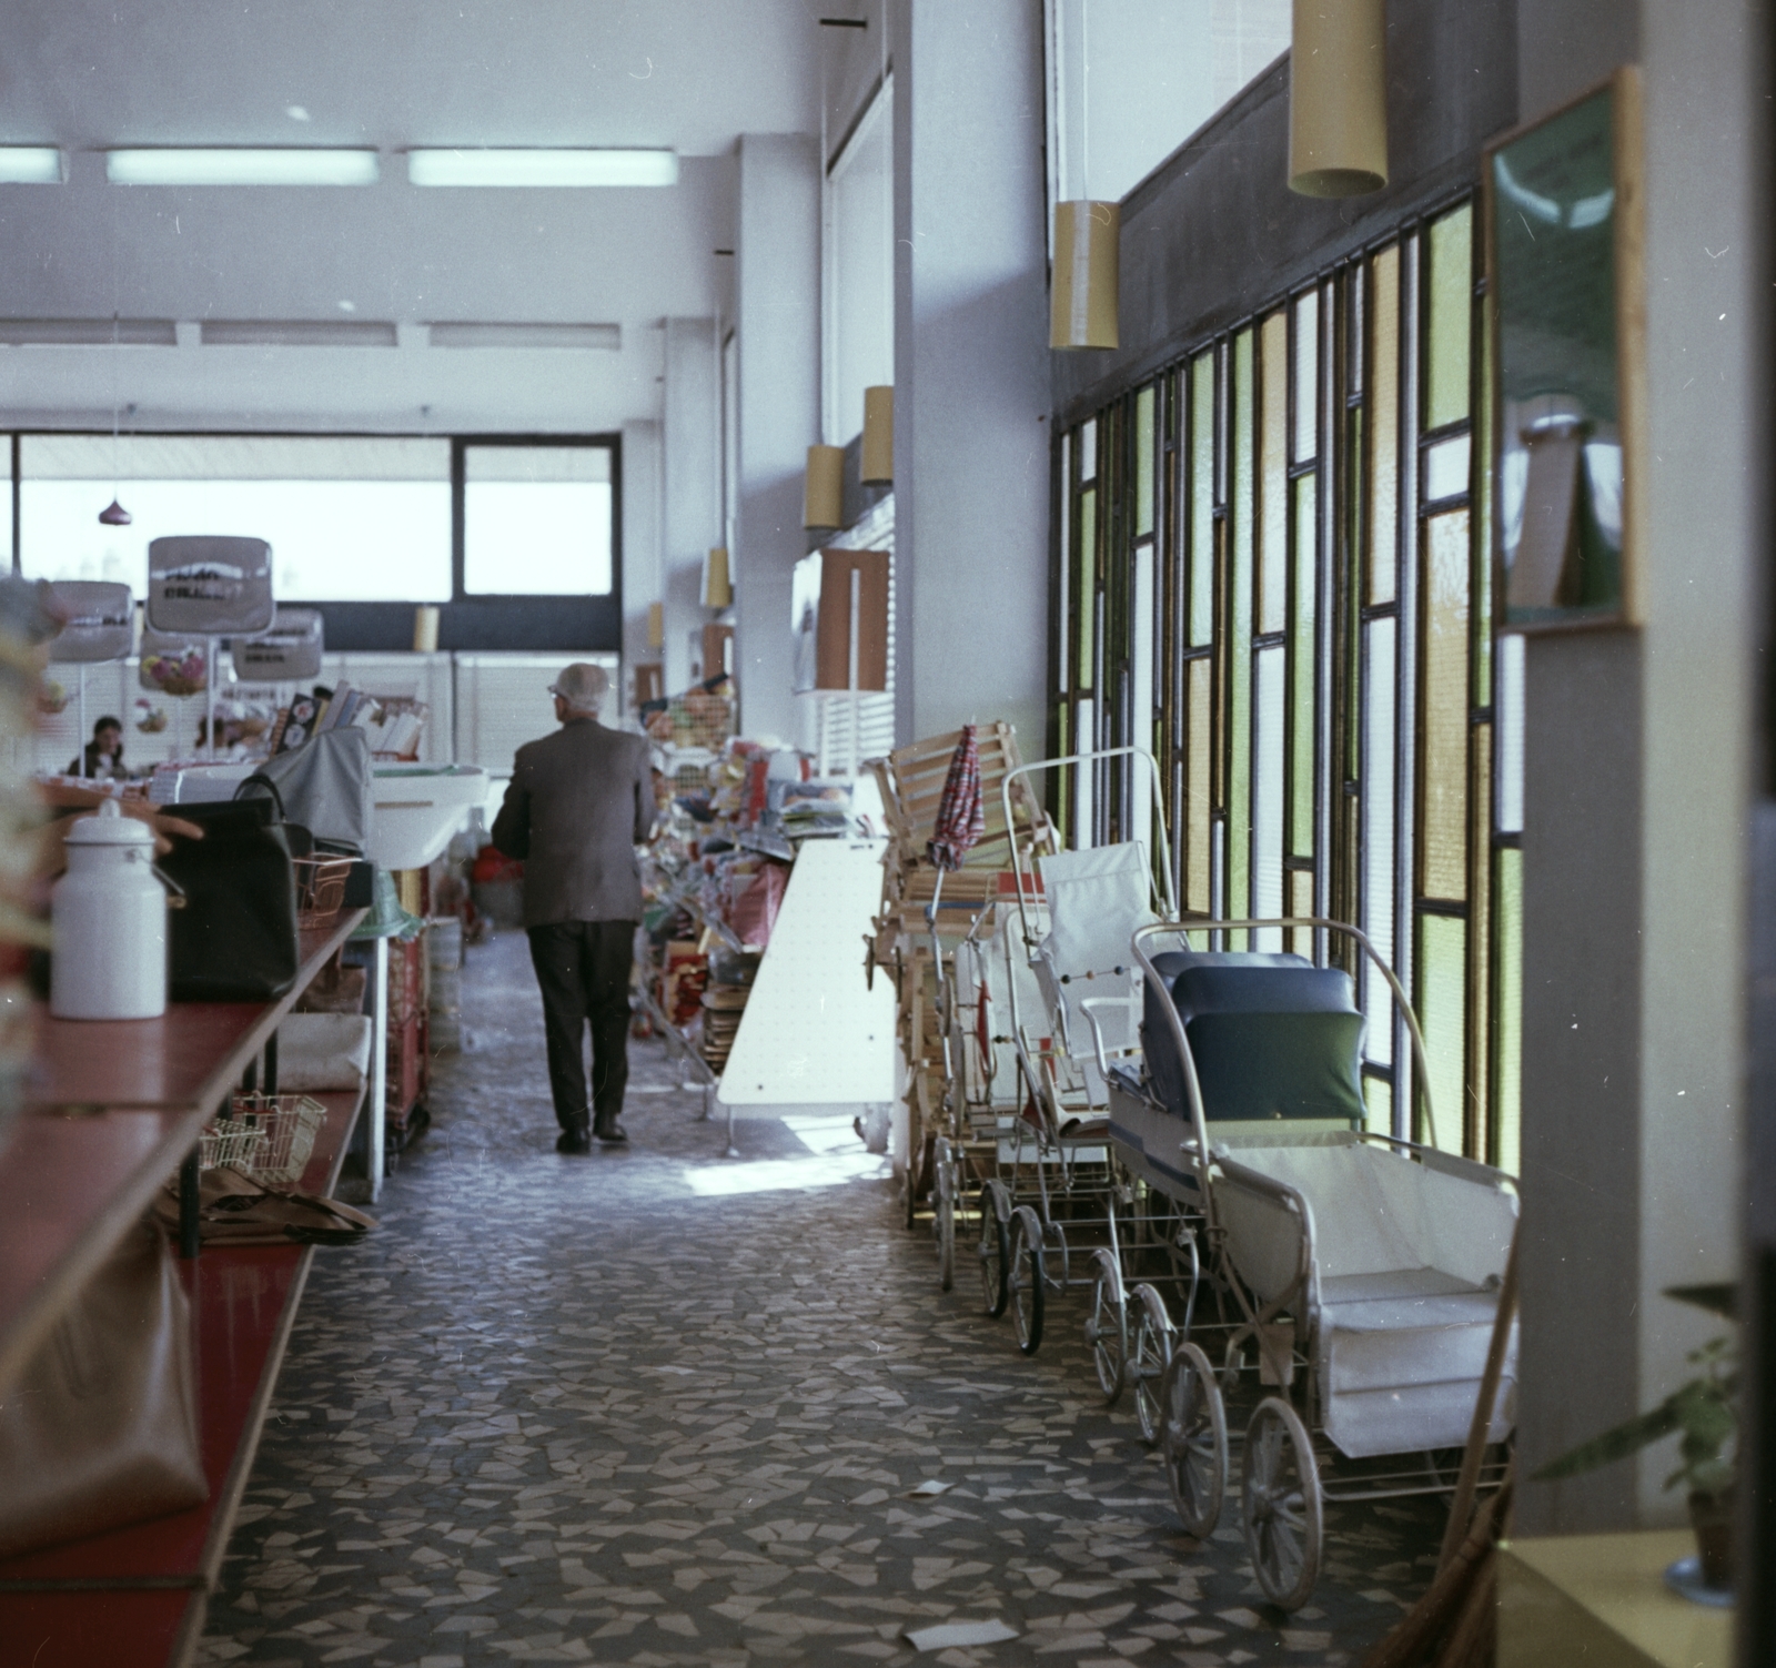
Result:
[[[785,741],[796,734],[790,574],[806,549],[803,469],[821,437],[819,167],[810,135],[741,135],[733,650],[742,734]]]

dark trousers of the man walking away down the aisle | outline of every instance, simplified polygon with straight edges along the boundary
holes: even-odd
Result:
[[[616,1117],[629,1084],[632,920],[563,920],[531,927],[531,965],[543,993],[549,1089],[563,1130],[586,1130],[581,1041],[591,1021],[591,1110]]]

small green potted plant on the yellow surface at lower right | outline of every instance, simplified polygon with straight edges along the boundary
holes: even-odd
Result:
[[[1733,1585],[1733,1458],[1739,1448],[1737,1352],[1730,1338],[1716,1338],[1691,1352],[1689,1361],[1701,1368],[1698,1377],[1680,1384],[1648,1412],[1543,1465],[1534,1481],[1552,1483],[1597,1471],[1678,1432],[1678,1467],[1666,1478],[1666,1487],[1687,1485],[1703,1586],[1728,1592]]]

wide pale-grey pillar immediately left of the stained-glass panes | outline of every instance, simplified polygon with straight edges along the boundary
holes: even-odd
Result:
[[[893,27],[895,728],[1005,718],[1043,753],[1048,240],[1043,7]]]

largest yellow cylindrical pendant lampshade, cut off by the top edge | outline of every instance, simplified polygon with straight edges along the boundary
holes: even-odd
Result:
[[[1289,190],[1360,197],[1387,185],[1387,0],[1295,0]]]

